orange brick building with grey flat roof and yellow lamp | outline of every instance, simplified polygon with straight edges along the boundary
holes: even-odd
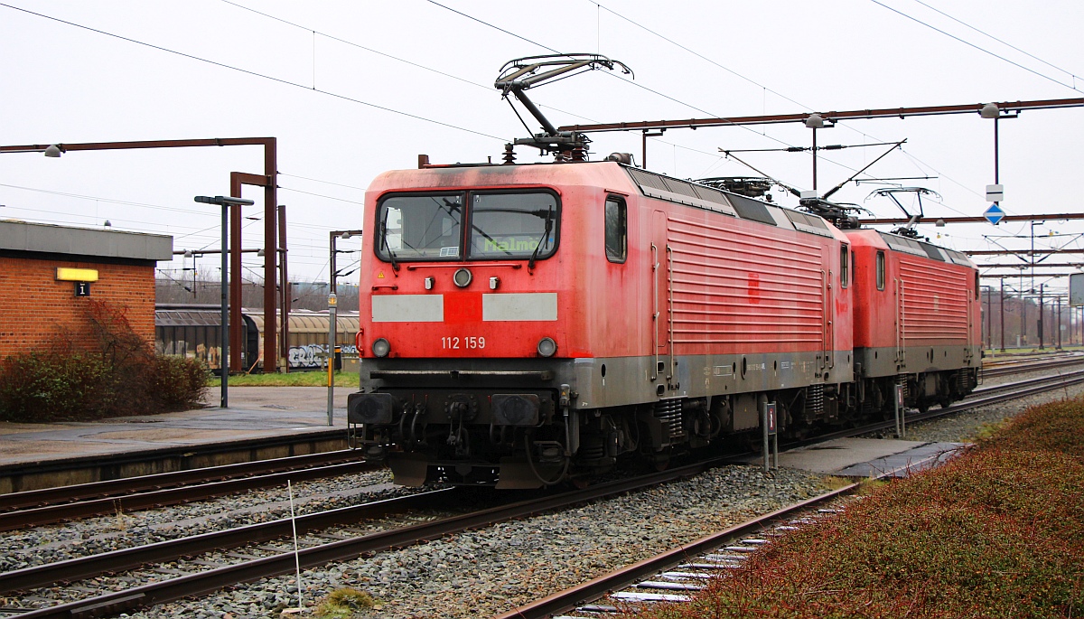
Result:
[[[91,299],[122,308],[154,343],[154,280],[172,236],[0,221],[0,358],[59,335],[91,337]]]

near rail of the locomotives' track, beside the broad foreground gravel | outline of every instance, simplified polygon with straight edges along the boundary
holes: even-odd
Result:
[[[571,490],[551,494],[533,500],[519,501],[507,505],[491,507],[479,512],[453,516],[434,523],[424,523],[387,531],[370,533],[360,538],[343,540],[304,549],[297,552],[297,560],[301,567],[315,567],[334,562],[350,560],[362,554],[403,547],[424,541],[459,533],[468,529],[490,526],[506,520],[524,518],[542,512],[564,508],[590,501],[596,501],[645,487],[673,481],[683,477],[698,475],[710,468],[730,462],[731,459],[712,459],[706,462],[655,473],[635,479],[612,481],[590,487],[583,490]],[[49,608],[28,611],[21,617],[26,618],[85,618],[116,615],[136,607],[150,606],[172,602],[192,595],[211,593],[223,586],[250,582],[261,578],[293,573],[295,554],[284,553],[242,564],[209,569],[144,584],[125,591],[91,597],[88,599],[61,604]]]

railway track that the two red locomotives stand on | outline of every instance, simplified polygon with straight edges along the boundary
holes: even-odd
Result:
[[[958,413],[969,408],[989,405],[995,401],[1018,398],[1040,390],[1061,388],[1067,382],[1084,382],[1084,371],[1067,376],[1044,377],[985,387],[977,394],[976,398],[965,403],[927,413],[912,414],[908,415],[908,418],[914,422]],[[887,428],[892,424],[878,425]],[[837,435],[829,437],[820,437],[818,440],[827,440],[836,438],[836,436],[854,436],[876,429],[878,428],[864,426],[862,428],[837,433]],[[297,527],[298,534],[305,537],[305,545],[307,545],[307,547],[297,553],[297,558],[304,567],[310,567],[331,562],[347,560],[366,553],[411,545],[470,528],[485,527],[507,519],[521,518],[549,510],[565,508],[579,503],[635,491],[681,477],[696,475],[712,466],[734,462],[744,455],[746,454],[727,459],[717,459],[645,478],[612,482],[591,487],[585,490],[547,494],[478,512],[440,517],[431,521],[405,524],[388,530],[356,537],[344,536],[341,532],[320,533],[319,531],[333,529],[334,527],[349,526],[351,524],[357,525],[364,519],[391,514],[405,514],[411,511],[431,506],[437,502],[447,507],[452,504],[450,500],[455,497],[455,492],[460,489],[441,490],[365,505],[332,510],[298,517],[294,523],[291,523],[289,519],[275,520],[0,573],[0,592],[26,591],[35,588],[50,586],[57,582],[77,581],[79,579],[100,579],[106,572],[133,569],[139,566],[154,565],[156,563],[175,562],[183,556],[218,553],[211,560],[196,559],[195,562],[190,562],[202,570],[197,573],[184,575],[179,578],[125,589],[118,593],[94,596],[80,602],[68,602],[50,608],[24,612],[23,616],[89,617],[103,612],[116,614],[139,606],[206,594],[230,584],[288,573],[294,569],[294,554],[282,552],[282,546],[260,546],[259,544],[275,539],[288,539],[293,526]],[[317,532],[313,533],[313,531]],[[353,531],[348,532],[352,533]],[[343,537],[347,537],[348,539],[338,539]],[[326,542],[327,539],[334,539],[334,541]],[[255,551],[227,553],[234,558],[247,557],[248,560],[234,565],[220,565],[221,556],[223,556],[221,554],[222,551],[253,547],[254,544],[256,544],[256,549],[261,551],[261,554],[268,556],[256,557],[251,554]],[[689,549],[685,549],[684,552],[689,552]]]

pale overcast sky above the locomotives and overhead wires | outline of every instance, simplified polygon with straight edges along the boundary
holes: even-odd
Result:
[[[556,125],[1084,96],[1084,79],[1073,75],[1084,75],[1079,0],[0,4],[0,144],[273,136],[295,281],[326,280],[327,231],[363,227],[364,188],[380,171],[414,167],[420,153],[434,163],[500,160],[503,143],[526,134],[492,88],[513,57],[602,53],[635,72],[634,80],[595,72],[532,90]],[[718,149],[809,145],[810,133],[800,125],[670,130],[649,143],[648,166],[681,178],[751,175]],[[991,120],[857,120],[818,132],[821,144],[904,138],[903,151],[867,177],[937,177],[905,181],[943,196],[924,203],[928,218],[982,214],[993,182]],[[1082,144],[1084,108],[1001,122],[1003,207],[1080,211]],[[638,159],[640,136],[596,134],[593,151]],[[823,154],[820,188],[881,152]],[[520,162],[537,158],[529,149],[518,154]],[[228,194],[229,172],[260,173],[261,157],[257,146],[60,159],[5,154],[0,218],[79,227],[109,220],[118,230],[171,234],[177,249],[215,248],[218,212],[192,197]],[[741,157],[812,186],[808,153]],[[885,198],[866,201],[874,189],[851,183],[834,197],[899,215]],[[246,211],[254,219],[245,222],[245,247],[255,248],[262,243],[261,193],[247,192],[257,206]],[[1028,235],[1028,224],[920,231],[964,250],[1030,244],[1003,238]],[[1035,231],[1038,246],[1084,247],[1073,236],[1084,223]],[[201,270],[217,278],[217,258],[204,260]],[[245,262],[247,279],[261,275],[255,256]],[[180,276],[170,271],[180,260],[159,267]]]

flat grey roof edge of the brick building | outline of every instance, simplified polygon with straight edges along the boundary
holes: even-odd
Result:
[[[165,261],[173,258],[173,237],[166,234],[3,220],[0,221],[0,252]]]

